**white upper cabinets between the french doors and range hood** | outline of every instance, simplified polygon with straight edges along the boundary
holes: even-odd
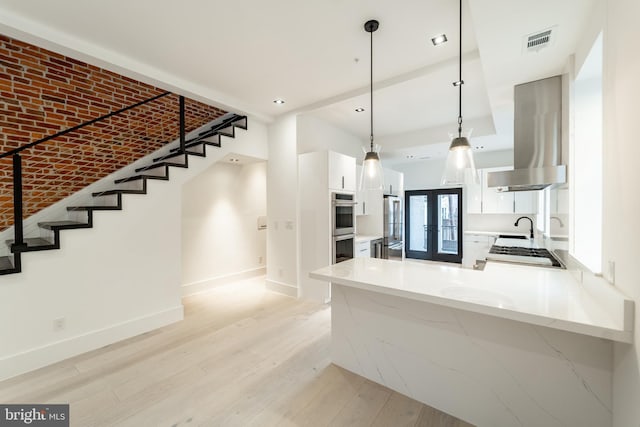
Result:
[[[498,191],[495,187],[487,186],[487,174],[511,170],[510,167],[488,168],[480,170],[480,183],[467,179],[467,213],[498,213],[498,214],[533,214],[538,209],[536,191]]]

